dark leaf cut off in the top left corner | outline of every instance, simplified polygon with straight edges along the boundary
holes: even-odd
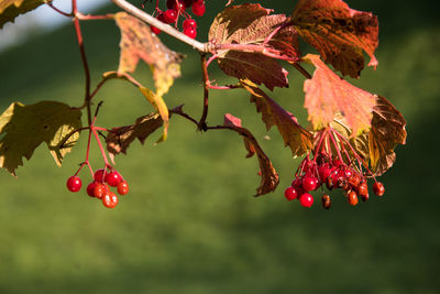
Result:
[[[0,0],[0,29],[4,23],[13,22],[16,17],[52,0]]]

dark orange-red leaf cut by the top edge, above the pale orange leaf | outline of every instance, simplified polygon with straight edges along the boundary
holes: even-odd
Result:
[[[369,65],[377,66],[378,22],[371,12],[350,9],[342,0],[299,0],[293,22],[302,39],[342,75],[360,76],[362,51],[371,57]]]

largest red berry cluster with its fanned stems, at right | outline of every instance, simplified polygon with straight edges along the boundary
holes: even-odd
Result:
[[[287,187],[284,192],[285,197],[288,200],[299,199],[299,203],[304,207],[311,207],[314,196],[310,192],[317,190],[320,187],[323,192],[323,186],[326,186],[328,190],[334,188],[342,189],[349,204],[352,206],[358,205],[359,196],[362,200],[366,202],[370,198],[367,176],[373,176],[372,173],[370,171],[364,173],[362,164],[354,164],[356,161],[360,163],[361,157],[356,153],[350,156],[344,146],[344,144],[350,144],[348,141],[337,143],[334,138],[339,138],[340,134],[334,130],[324,130],[320,135],[320,144],[314,150],[315,156],[310,159],[310,154],[308,154],[301,162],[292,182],[292,186]],[[330,135],[331,138],[329,138]],[[342,138],[339,139],[339,142],[341,142]],[[322,144],[322,142],[324,143]],[[337,151],[334,156],[331,154],[332,150]],[[353,154],[354,150],[351,151]],[[342,156],[342,154],[345,154],[345,156]],[[352,161],[352,157],[355,160]],[[376,181],[373,184],[373,190],[377,196],[383,196],[385,193],[384,185]],[[331,206],[330,196],[323,194],[321,200],[322,206],[329,209]]]

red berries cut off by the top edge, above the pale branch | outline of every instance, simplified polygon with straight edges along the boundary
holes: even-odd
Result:
[[[197,23],[186,10],[191,8],[194,15],[202,17],[206,11],[205,0],[167,0],[166,7],[167,10],[165,11],[156,7],[156,19],[164,23],[174,23],[177,28],[179,17],[184,17],[183,32],[187,36],[195,39],[197,36]],[[161,30],[153,25],[151,25],[151,30],[155,34],[161,33]]]

